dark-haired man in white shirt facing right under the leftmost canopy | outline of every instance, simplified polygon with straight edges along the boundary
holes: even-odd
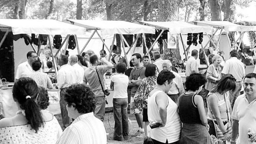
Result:
[[[38,60],[38,56],[34,51],[29,51],[27,53],[27,59],[28,61],[19,64],[19,66],[17,67],[15,81],[21,77],[28,77],[30,74],[32,74],[32,63],[33,61]]]

